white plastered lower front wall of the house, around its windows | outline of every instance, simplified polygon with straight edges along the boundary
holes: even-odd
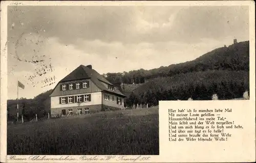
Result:
[[[60,104],[59,103],[59,97],[67,97],[67,96],[51,97],[51,108],[86,106],[86,105],[101,104],[101,100],[102,100],[102,93],[101,92],[94,92],[94,93],[87,93],[87,94],[91,94],[91,101],[81,102],[81,103]],[[84,94],[76,94],[75,96],[77,96],[77,95],[84,95]],[[69,95],[69,96],[71,96],[71,95]]]

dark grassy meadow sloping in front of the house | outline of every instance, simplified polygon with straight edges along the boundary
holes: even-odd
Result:
[[[158,107],[11,124],[7,154],[158,155]]]

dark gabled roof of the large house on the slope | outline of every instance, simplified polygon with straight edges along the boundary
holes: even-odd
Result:
[[[68,82],[68,81],[72,81],[72,80],[78,80],[78,79],[86,79],[86,78],[90,78],[92,80],[92,82],[102,91],[110,92],[110,93],[114,93],[114,94],[118,94],[123,97],[126,97],[118,89],[115,89],[115,91],[111,91],[108,88],[106,88],[102,84],[102,82],[105,84],[111,85],[111,86],[114,86],[114,85],[112,83],[110,83],[107,79],[105,79],[102,75],[100,75],[97,71],[92,69],[91,65],[88,65],[88,66],[80,65],[74,71],[72,71],[70,74],[68,74],[66,77],[61,79],[59,83]]]

